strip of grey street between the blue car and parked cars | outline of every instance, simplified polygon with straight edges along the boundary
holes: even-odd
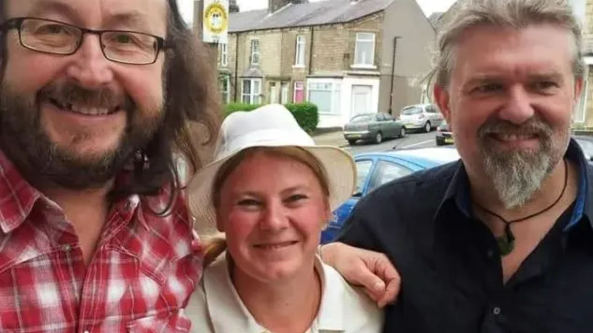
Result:
[[[355,146],[346,146],[344,149],[352,155],[368,152],[390,151],[396,149],[427,148],[435,147],[435,131],[430,133],[408,133],[403,139],[385,139],[384,142],[375,143],[361,142]]]

